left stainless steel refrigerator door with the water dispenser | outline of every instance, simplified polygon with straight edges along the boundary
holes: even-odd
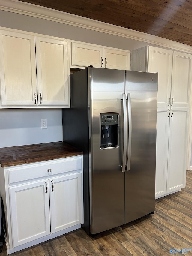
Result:
[[[124,93],[125,71],[88,68],[91,234],[124,224]]]

